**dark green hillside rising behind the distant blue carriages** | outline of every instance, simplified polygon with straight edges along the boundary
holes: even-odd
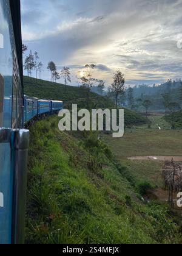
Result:
[[[85,107],[87,103],[87,91],[83,88],[64,86],[45,80],[30,79],[24,77],[24,93],[40,99],[55,99],[64,101],[66,107],[78,104],[78,107]],[[113,107],[113,102],[107,98],[90,92],[90,108]]]

